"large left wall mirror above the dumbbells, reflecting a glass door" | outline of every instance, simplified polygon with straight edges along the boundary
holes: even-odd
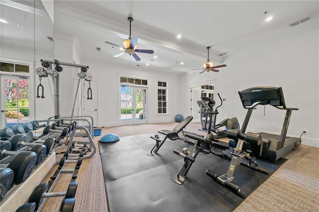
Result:
[[[54,60],[53,0],[1,0],[0,19],[0,127],[54,116],[52,78],[35,73]]]

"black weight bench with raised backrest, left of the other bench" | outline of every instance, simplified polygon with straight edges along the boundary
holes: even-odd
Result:
[[[193,116],[190,115],[190,116],[186,117],[184,120],[182,120],[181,122],[179,122],[179,124],[177,124],[172,130],[166,130],[166,129],[160,130],[159,133],[165,135],[163,140],[160,140],[159,135],[155,135],[154,137],[151,136],[152,139],[156,140],[156,144],[152,148],[151,153],[147,153],[147,155],[149,155],[149,156],[155,155],[159,151],[160,147],[163,145],[163,143],[165,142],[165,140],[167,138],[170,140],[173,140],[173,141],[179,139],[179,140],[183,140],[183,141],[189,143],[190,141],[188,141],[188,139],[185,137],[185,133],[183,132],[183,128],[192,119],[193,119]],[[183,137],[180,137],[178,135],[178,133],[180,131],[182,132]],[[194,143],[191,142],[191,144],[194,144]]]

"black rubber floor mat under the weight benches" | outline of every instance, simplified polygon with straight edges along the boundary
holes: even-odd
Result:
[[[233,211],[243,201],[206,175],[207,169],[225,174],[229,160],[199,153],[185,182],[177,185],[170,174],[178,172],[183,159],[173,149],[180,151],[187,147],[191,152],[194,147],[180,140],[167,140],[157,155],[148,156],[146,153],[154,144],[150,134],[99,144],[110,212],[226,212]],[[271,175],[285,161],[259,162]],[[270,175],[239,166],[233,183],[248,196]]]

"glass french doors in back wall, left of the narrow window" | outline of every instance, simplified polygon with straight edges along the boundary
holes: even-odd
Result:
[[[120,125],[147,123],[147,88],[121,85]]]

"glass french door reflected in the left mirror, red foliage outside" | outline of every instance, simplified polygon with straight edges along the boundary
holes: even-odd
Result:
[[[1,128],[29,121],[29,79],[1,75]]]

